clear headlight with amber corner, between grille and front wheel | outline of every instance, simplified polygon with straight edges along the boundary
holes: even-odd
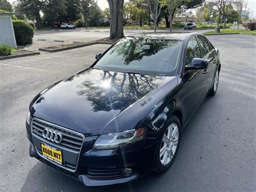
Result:
[[[111,149],[129,145],[135,141],[142,140],[144,138],[144,132],[145,128],[139,128],[137,130],[131,129],[128,131],[102,134],[97,138],[93,149]]]

